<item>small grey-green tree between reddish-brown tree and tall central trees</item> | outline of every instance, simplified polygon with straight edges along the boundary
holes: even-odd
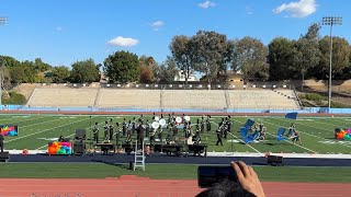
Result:
[[[158,69],[159,81],[162,83],[171,83],[174,77],[179,73],[177,70],[176,60],[172,57],[167,57],[166,61]]]

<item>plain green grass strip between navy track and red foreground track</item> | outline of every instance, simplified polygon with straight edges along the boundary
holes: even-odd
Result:
[[[263,182],[350,183],[351,167],[253,166]],[[196,179],[196,165],[147,164],[146,171],[131,171],[127,165],[103,163],[2,163],[0,177],[22,178],[104,178],[139,175],[161,179]]]

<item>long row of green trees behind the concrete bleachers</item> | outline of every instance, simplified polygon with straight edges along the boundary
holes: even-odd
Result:
[[[100,81],[101,73],[111,83],[170,83],[180,71],[185,81],[196,71],[208,83],[223,82],[228,71],[240,73],[246,81],[325,80],[329,78],[330,38],[320,37],[319,30],[312,24],[298,39],[276,37],[268,46],[254,37],[229,39],[214,31],[176,35],[169,45],[171,55],[162,63],[124,50],[110,55],[103,63],[87,59],[71,68],[53,67],[39,58],[21,62],[0,56],[0,72],[2,84],[91,83]],[[333,37],[331,77],[351,78],[351,46],[342,37]]]

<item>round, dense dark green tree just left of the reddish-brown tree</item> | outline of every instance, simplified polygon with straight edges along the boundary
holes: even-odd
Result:
[[[138,56],[128,51],[110,55],[103,65],[103,70],[112,83],[135,82],[140,76]]]

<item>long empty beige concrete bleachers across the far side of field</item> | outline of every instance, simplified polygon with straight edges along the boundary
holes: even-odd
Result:
[[[36,88],[32,107],[115,107],[162,109],[297,109],[292,90],[146,90]]]

